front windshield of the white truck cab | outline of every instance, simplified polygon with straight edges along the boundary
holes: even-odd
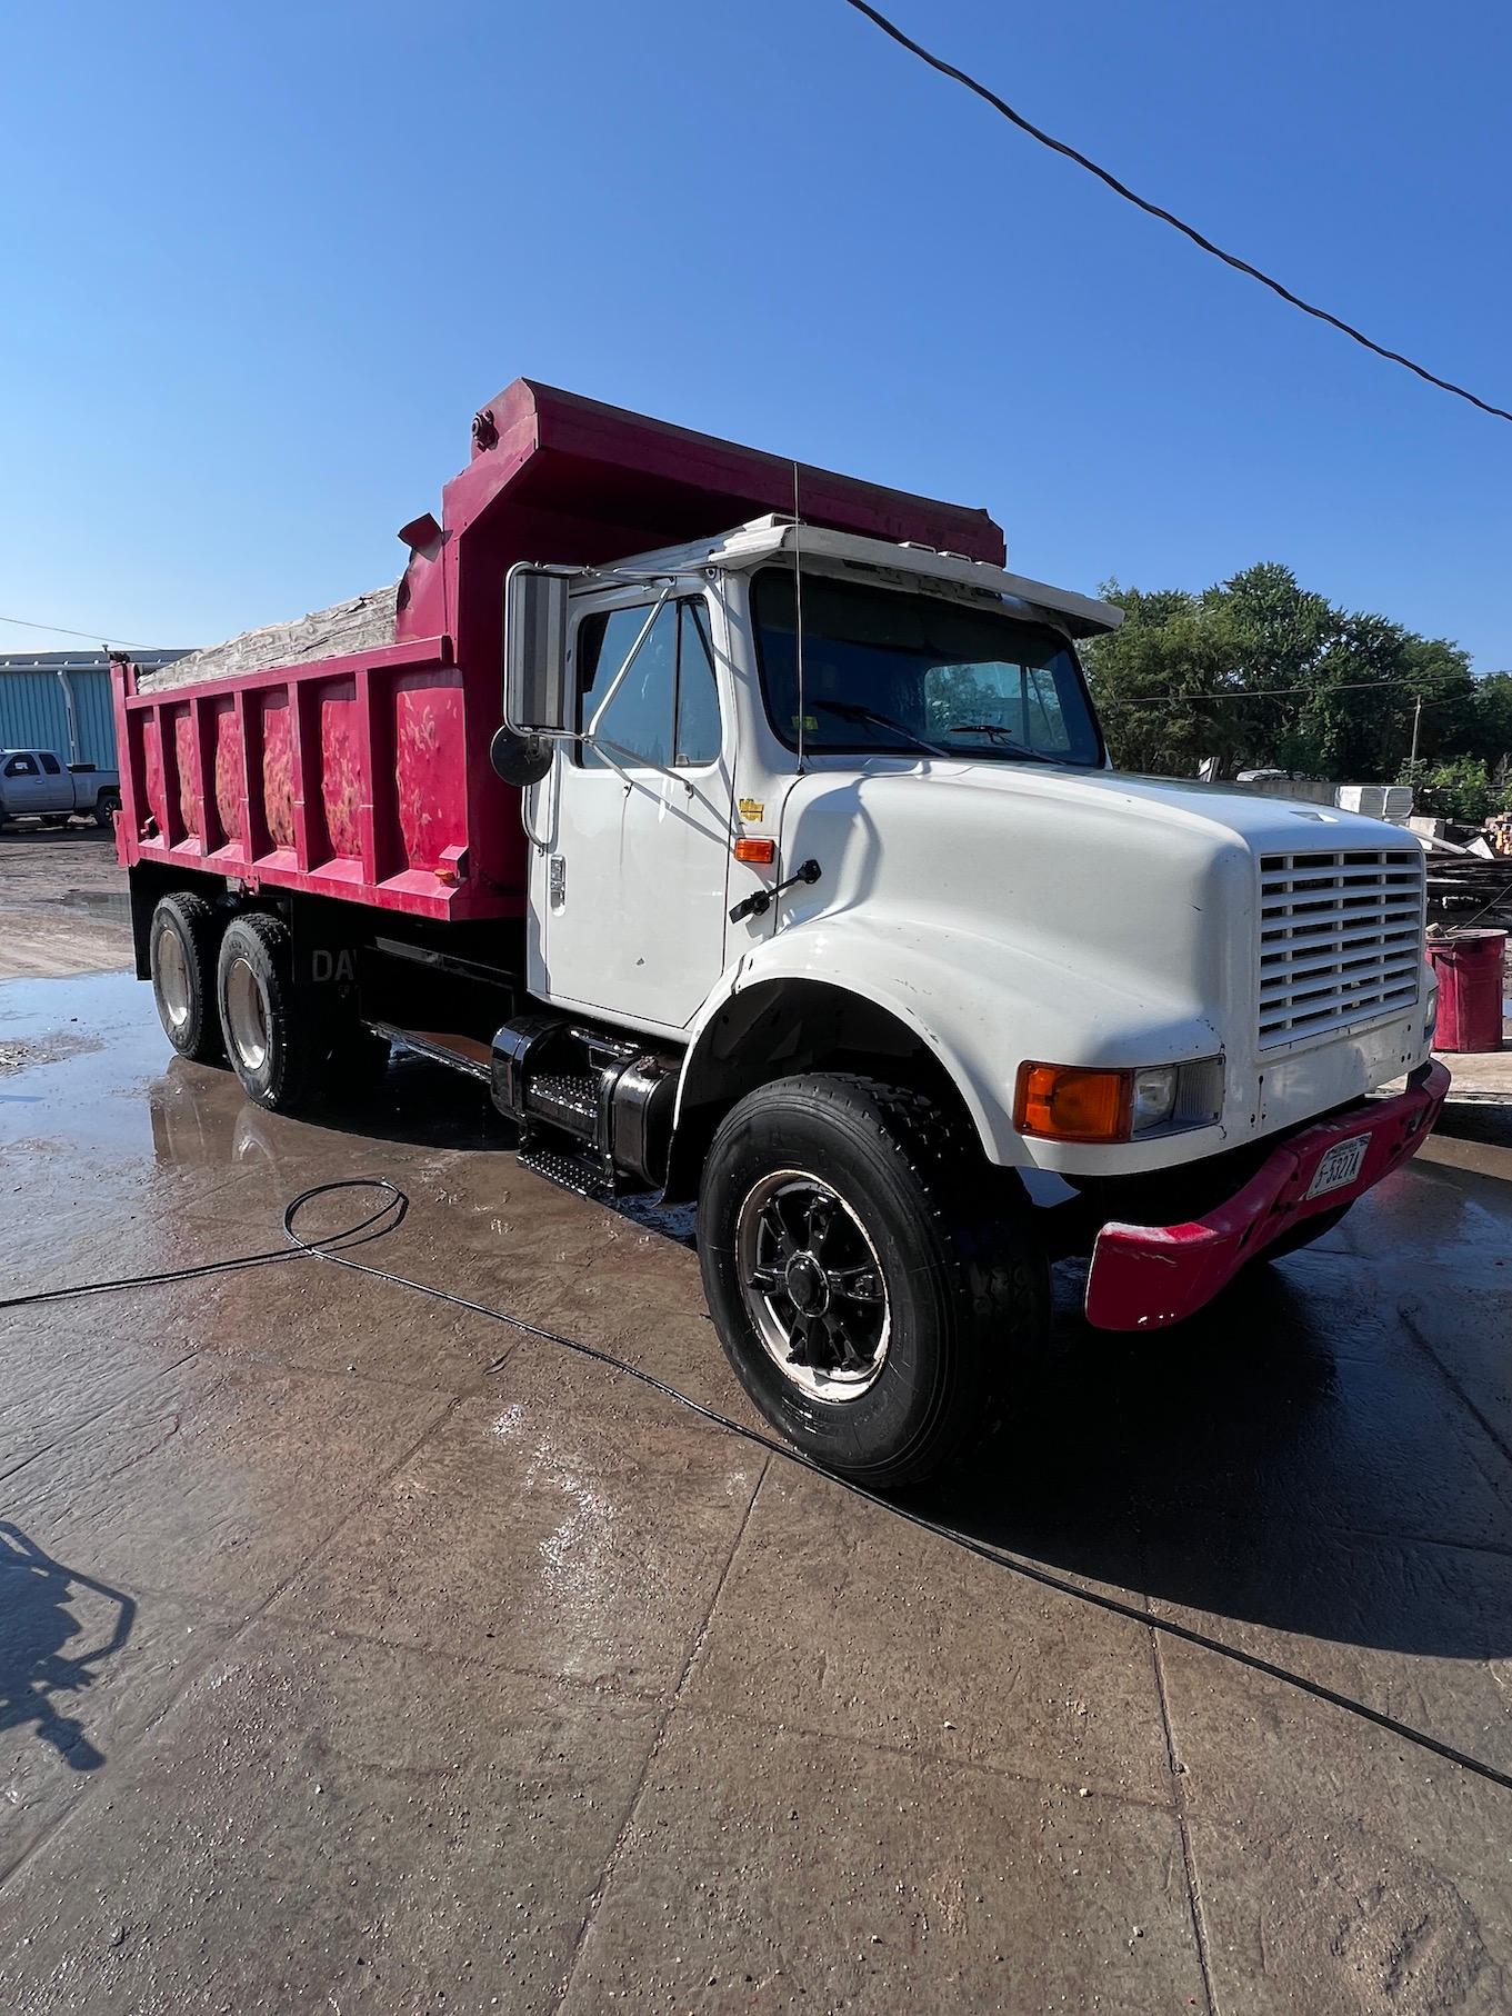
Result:
[[[798,746],[792,569],[752,585],[772,726]],[[1081,665],[1056,631],[998,609],[802,577],[802,746],[1103,762]]]

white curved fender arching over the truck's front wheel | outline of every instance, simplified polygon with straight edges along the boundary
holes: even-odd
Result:
[[[1012,1123],[1024,1058],[1183,1062],[1222,1048],[1216,1024],[1193,1002],[1153,988],[1135,994],[1089,968],[1002,937],[855,909],[790,923],[730,968],[700,1010],[677,1087],[677,1121],[689,1093],[698,1097],[732,1002],[770,982],[814,982],[887,1010],[913,1032],[956,1085],[990,1161],[1077,1169],[1087,1165],[1085,1151],[1030,1141]],[[1101,1153],[1107,1157],[1107,1149]]]

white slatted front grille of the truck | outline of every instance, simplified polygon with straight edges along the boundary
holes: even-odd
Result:
[[[1260,1048],[1411,1008],[1423,849],[1260,857]]]

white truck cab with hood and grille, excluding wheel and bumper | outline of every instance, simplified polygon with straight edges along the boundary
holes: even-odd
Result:
[[[774,518],[573,579],[575,714],[526,804],[532,994],[687,1042],[696,1085],[738,996],[839,988],[939,1060],[990,1161],[1087,1175],[1195,1161],[1415,1068],[1421,849],[1115,772],[1077,639],[1119,621]],[[814,881],[730,917],[810,859]],[[1137,1073],[1129,1137],[1026,1129],[1026,1060]]]

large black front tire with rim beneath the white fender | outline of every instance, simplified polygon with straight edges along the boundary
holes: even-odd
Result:
[[[849,1075],[780,1079],[722,1121],[700,1266],[766,1419],[875,1490],[931,1476],[1000,1409],[1044,1337],[1048,1264],[966,1121]]]

